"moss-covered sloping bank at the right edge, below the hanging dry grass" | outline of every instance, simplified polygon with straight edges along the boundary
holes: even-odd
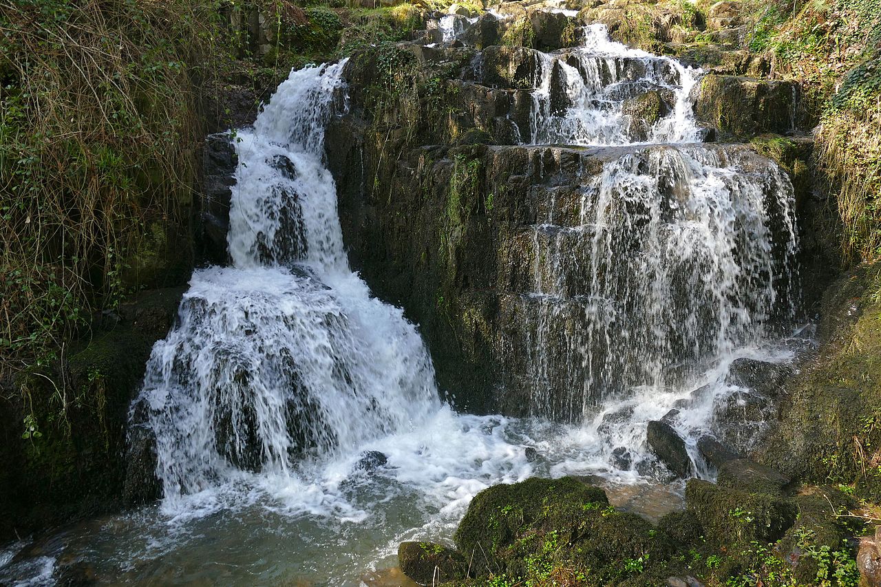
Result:
[[[881,267],[864,265],[826,292],[824,346],[788,386],[764,460],[815,483],[856,484],[881,498]]]

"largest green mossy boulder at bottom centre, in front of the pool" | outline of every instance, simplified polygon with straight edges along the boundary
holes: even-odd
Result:
[[[566,569],[583,584],[650,574],[674,551],[666,534],[571,477],[486,489],[471,502],[455,543],[477,576]]]

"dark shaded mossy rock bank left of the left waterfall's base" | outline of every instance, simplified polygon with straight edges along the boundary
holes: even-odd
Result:
[[[49,418],[56,417],[56,407],[34,404],[28,409],[35,414],[42,435],[22,440],[23,406],[0,398],[0,439],[4,441],[0,445],[0,494],[4,495],[0,539],[158,496],[149,443],[136,440],[132,456],[122,455],[127,450],[131,400],[143,382],[153,343],[166,336],[177,316],[183,291],[177,287],[143,292],[135,301],[100,316],[92,339],[70,349],[65,381],[71,391],[97,398],[93,404],[68,406],[70,433],[51,426]],[[13,384],[47,383],[33,376]],[[50,392],[40,395],[53,396]],[[10,397],[18,396],[16,392]],[[32,397],[40,396],[33,393]],[[16,473],[24,470],[29,473]]]

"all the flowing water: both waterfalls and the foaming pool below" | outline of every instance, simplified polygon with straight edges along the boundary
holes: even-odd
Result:
[[[401,540],[448,540],[478,491],[535,475],[597,475],[648,516],[676,508],[646,423],[678,407],[693,450],[741,391],[732,360],[791,357],[767,325],[796,298],[792,189],[769,161],[695,145],[696,72],[596,26],[537,59],[528,142],[649,146],[604,164],[576,221],[550,206],[530,227],[534,418],[441,402],[417,326],[344,252],[323,129],[345,108],[345,62],[293,71],[236,134],[233,264],[195,272],[132,408],[164,500],[0,554],[0,582],[47,583],[73,558],[104,583],[403,584],[382,571]],[[670,111],[633,137],[624,100],[652,89]]]

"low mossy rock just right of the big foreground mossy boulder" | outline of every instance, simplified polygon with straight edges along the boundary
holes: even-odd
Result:
[[[798,514],[796,502],[787,497],[749,493],[702,479],[689,479],[685,503],[707,541],[729,548],[780,539]]]

